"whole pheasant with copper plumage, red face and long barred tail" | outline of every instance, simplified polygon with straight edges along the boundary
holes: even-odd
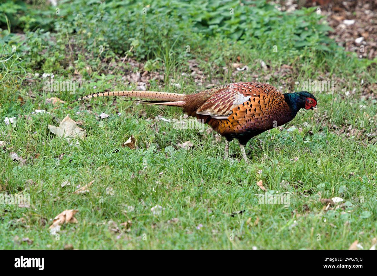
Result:
[[[242,157],[248,163],[245,148],[248,140],[264,131],[284,125],[301,108],[317,110],[317,100],[307,91],[281,93],[270,84],[237,82],[185,95],[160,91],[111,91],[94,93],[76,101],[102,96],[146,98],[148,105],[181,107],[189,116],[210,125],[226,139],[225,157],[229,142],[239,141]]]

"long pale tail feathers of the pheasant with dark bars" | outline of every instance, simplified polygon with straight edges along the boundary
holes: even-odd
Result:
[[[125,97],[133,97],[133,98],[146,98],[146,99],[158,100],[158,103],[155,101],[155,102],[151,102],[151,104],[170,105],[169,102],[171,104],[173,104],[173,102],[176,102],[177,104],[184,103],[184,101],[182,100],[185,98],[186,95],[178,94],[178,93],[160,92],[160,91],[126,90],[126,91],[93,93],[93,94],[78,98],[73,102],[81,101],[83,99],[106,97],[106,96],[125,96]],[[148,104],[148,101],[145,101],[145,103]]]

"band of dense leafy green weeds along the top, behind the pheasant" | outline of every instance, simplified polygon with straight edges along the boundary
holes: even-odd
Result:
[[[239,44],[261,52],[275,45],[287,58],[300,55],[305,47],[312,52],[337,50],[336,43],[327,37],[332,29],[316,7],[288,14],[265,0],[157,0],[151,4],[62,0],[57,7],[44,0],[6,0],[0,4],[0,14],[2,43],[17,46],[16,54],[27,52],[25,61],[32,63],[33,69],[61,73],[66,69],[68,38],[89,60],[123,55],[132,47],[128,56],[152,59],[150,66],[158,65],[153,61],[161,58],[166,48],[190,58],[184,51],[187,45],[192,50],[202,49],[219,41],[227,47]],[[219,65],[226,65],[222,55],[227,51],[213,54]]]

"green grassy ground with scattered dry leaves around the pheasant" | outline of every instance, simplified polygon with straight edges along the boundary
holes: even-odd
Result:
[[[162,7],[175,11],[183,2],[157,1],[149,8],[156,12],[146,15],[149,20],[142,16],[142,1],[129,9],[118,2],[102,7],[101,24],[96,16],[102,4],[83,14],[77,12],[83,1],[76,0],[60,4],[61,16],[38,1],[16,14],[21,23],[21,15],[36,18],[33,24],[39,27],[20,23],[9,33],[2,25],[0,193],[28,193],[30,207],[0,204],[0,248],[348,249],[356,240],[360,249],[372,246],[377,60],[358,59],[327,41],[327,29],[316,27],[326,18],[315,9],[290,16],[257,1],[256,22],[271,16],[272,23],[261,23],[267,29],[260,26],[254,41],[246,27],[234,37],[242,24],[251,26],[242,18],[209,34],[182,22],[186,15],[177,12],[164,23]],[[208,11],[216,5],[229,11],[234,4],[210,3]],[[195,11],[195,3],[186,5]],[[234,5],[234,17],[248,12],[238,14]],[[135,36],[131,30],[122,33],[123,25],[117,24],[122,12],[132,9],[141,15],[124,24]],[[190,16],[197,16],[193,11]],[[303,15],[310,15],[309,27],[293,19]],[[41,22],[52,18],[53,27],[42,26],[39,17]],[[302,31],[293,34],[283,23]],[[307,37],[307,45],[292,44],[293,35]],[[54,74],[53,81],[74,81],[75,93],[47,91],[51,76],[43,73]],[[192,94],[230,82],[261,81],[293,92],[304,90],[310,80],[334,85],[331,91],[311,91],[319,113],[301,110],[290,123],[250,140],[250,165],[237,142],[230,144],[231,158],[223,159],[225,139],[206,125],[190,124],[193,119],[184,118],[179,108],[112,97],[70,104],[90,93],[138,86]],[[52,97],[64,103],[46,102]],[[109,116],[101,119],[101,113]],[[68,141],[49,131],[48,125],[58,126],[67,114],[86,137]],[[6,117],[15,117],[14,122],[6,124]],[[130,136],[135,149],[122,146]],[[179,146],[187,141],[191,148]],[[12,152],[22,160],[13,160]],[[89,192],[74,194],[93,180]],[[266,191],[257,186],[259,180]],[[288,202],[261,204],[265,195],[284,195]],[[343,201],[324,200],[334,197]],[[67,209],[78,210],[77,223],[51,234],[52,220]]]

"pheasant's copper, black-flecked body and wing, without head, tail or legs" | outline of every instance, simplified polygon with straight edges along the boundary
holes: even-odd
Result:
[[[207,98],[202,105],[190,110],[188,100],[184,111],[207,120],[228,141],[238,139],[245,145],[253,136],[292,119],[284,95],[269,84],[238,82],[201,93]]]

